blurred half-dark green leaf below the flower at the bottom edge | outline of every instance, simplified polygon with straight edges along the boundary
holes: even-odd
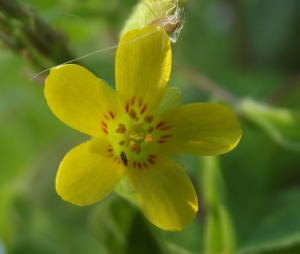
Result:
[[[90,227],[106,253],[166,253],[138,207],[123,198],[111,195],[100,202]]]

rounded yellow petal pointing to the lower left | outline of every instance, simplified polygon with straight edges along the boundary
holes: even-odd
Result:
[[[76,205],[103,199],[124,176],[119,158],[110,157],[105,139],[93,139],[73,148],[62,160],[56,177],[56,191]]]

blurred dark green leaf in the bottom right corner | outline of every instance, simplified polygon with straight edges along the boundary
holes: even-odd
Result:
[[[299,251],[300,244],[299,200],[299,187],[279,192],[267,200],[262,217],[238,253],[299,253],[292,251]]]

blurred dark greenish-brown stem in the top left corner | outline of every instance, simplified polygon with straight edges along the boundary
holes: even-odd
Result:
[[[0,30],[3,42],[18,53],[26,52],[38,69],[75,58],[61,32],[51,28],[32,10],[15,0],[0,0]]]

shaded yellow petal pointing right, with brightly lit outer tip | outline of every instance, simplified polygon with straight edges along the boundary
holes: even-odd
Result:
[[[156,149],[179,154],[218,155],[238,144],[242,131],[224,105],[194,103],[164,112],[158,122]],[[166,137],[166,138],[160,138]]]

